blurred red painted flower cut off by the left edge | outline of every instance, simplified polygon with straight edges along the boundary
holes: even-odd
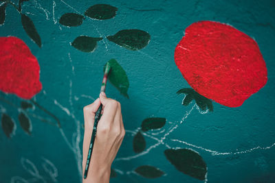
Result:
[[[0,90],[30,99],[42,89],[39,73],[39,62],[23,40],[0,37]]]

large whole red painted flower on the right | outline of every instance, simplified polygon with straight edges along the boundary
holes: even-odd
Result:
[[[241,106],[267,82],[256,41],[223,23],[200,21],[187,27],[175,63],[197,93],[228,107]]]

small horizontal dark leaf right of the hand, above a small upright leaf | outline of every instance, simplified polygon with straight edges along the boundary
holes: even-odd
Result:
[[[147,132],[148,130],[158,129],[165,125],[165,118],[147,118],[142,121],[142,131]]]

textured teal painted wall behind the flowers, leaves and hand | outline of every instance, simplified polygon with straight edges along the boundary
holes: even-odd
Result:
[[[23,2],[22,13],[34,23],[41,47],[37,36],[26,34],[19,12],[10,4],[5,8],[0,36],[16,36],[30,48],[40,66],[42,89],[31,100],[0,92],[1,124],[5,114],[5,121],[10,117],[14,124],[10,138],[0,130],[0,182],[80,182],[83,106],[98,97],[103,66],[112,58],[126,72],[129,99],[107,84],[107,96],[122,104],[126,129],[111,182],[201,182],[196,175],[178,171],[164,154],[167,149],[197,152],[189,155],[205,162],[204,181],[274,182],[274,1],[104,1],[118,8],[112,19],[80,17],[83,22],[76,27],[59,23],[63,14],[84,16],[98,3],[102,1]],[[201,110],[194,100],[181,105],[185,95],[177,95],[190,85],[175,64],[175,47],[186,27],[205,20],[227,23],[254,38],[265,60],[267,84],[237,108],[212,101],[210,112]],[[147,32],[150,42],[131,51],[107,39],[122,29]],[[96,41],[93,52],[86,53],[72,46],[81,35],[103,39]],[[21,106],[24,101],[32,107]],[[31,126],[28,119],[19,122],[21,113]],[[165,125],[141,131],[142,121],[151,117],[165,118]],[[146,141],[140,152],[133,149],[137,132]],[[143,178],[144,173],[135,171],[142,165],[162,171],[160,177]]]

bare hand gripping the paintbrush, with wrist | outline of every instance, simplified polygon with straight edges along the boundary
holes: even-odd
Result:
[[[98,121],[98,130],[94,142],[93,153],[87,178],[83,182],[105,183],[109,182],[111,164],[115,159],[118,149],[125,135],[120,103],[100,93],[100,98],[94,103],[83,108],[85,132],[83,140],[83,175],[87,162],[87,154],[91,141],[91,133],[94,127],[94,117],[102,103],[102,117]]]

